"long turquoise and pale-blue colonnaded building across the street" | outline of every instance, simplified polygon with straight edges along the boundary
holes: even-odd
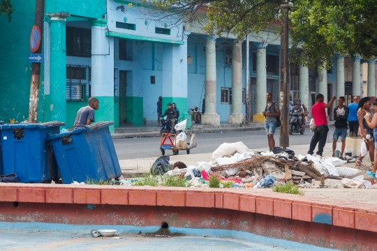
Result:
[[[35,2],[13,0],[12,3],[13,20],[8,22],[5,16],[0,16],[3,34],[0,120],[24,121],[29,109],[31,63],[27,57],[31,53],[29,34],[34,25]],[[205,10],[198,15],[205,16]],[[114,121],[115,127],[156,123],[156,102],[162,96],[163,110],[168,102],[175,102],[181,117],[188,117],[190,107],[201,109],[205,98],[202,123],[239,124],[244,120],[247,78],[251,83],[254,122],[263,122],[261,112],[267,91],[279,102],[280,40],[276,35],[279,23],[258,35],[251,34],[246,52],[245,41],[236,41],[232,36],[207,36],[200,24],[172,25],[175,20],[171,18],[155,20],[154,9],[136,1],[45,1],[42,45],[45,59],[40,77],[38,122],[65,121],[67,128],[72,128],[77,110],[95,96],[100,100],[96,121]],[[249,53],[249,76],[246,76],[246,53]],[[334,56],[334,61],[337,74],[328,72],[330,82],[325,70],[318,73],[292,65],[293,99],[301,98],[310,107],[318,91],[340,96],[351,89],[353,95],[366,96],[360,87],[360,59],[353,63],[351,60],[346,68],[341,63],[345,59],[340,56]],[[375,66],[374,61],[367,63],[371,68]],[[371,72],[368,96],[375,97],[376,77]],[[352,87],[346,84],[349,81],[344,76],[348,75]],[[338,88],[342,85],[343,89]]]

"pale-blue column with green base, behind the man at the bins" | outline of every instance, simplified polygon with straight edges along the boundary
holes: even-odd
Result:
[[[91,96],[100,102],[97,122],[114,121],[114,38],[105,36],[107,23],[105,19],[91,20]]]

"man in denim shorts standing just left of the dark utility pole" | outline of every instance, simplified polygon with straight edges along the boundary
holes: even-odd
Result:
[[[272,93],[266,95],[267,105],[262,114],[265,116],[265,130],[268,139],[269,151],[275,147],[274,134],[276,130],[276,117],[279,117],[280,109],[276,103],[272,101]]]

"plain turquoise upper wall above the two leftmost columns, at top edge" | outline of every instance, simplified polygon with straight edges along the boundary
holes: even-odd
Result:
[[[101,18],[106,14],[106,0],[47,0],[45,12],[65,12],[76,17]]]

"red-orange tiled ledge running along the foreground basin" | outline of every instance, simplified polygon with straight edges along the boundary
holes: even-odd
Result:
[[[262,189],[0,183],[0,201],[226,208],[377,232],[377,205]]]

